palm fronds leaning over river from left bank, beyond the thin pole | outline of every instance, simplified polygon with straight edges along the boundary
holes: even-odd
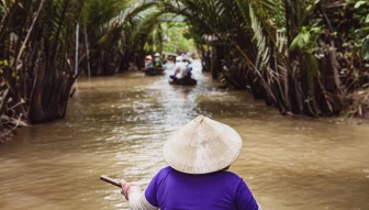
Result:
[[[83,9],[88,32],[92,75],[114,74],[126,69],[135,53],[143,49],[147,33],[157,21],[156,1],[90,0]],[[82,44],[82,43],[81,43]],[[83,45],[83,44],[82,44]],[[87,62],[86,53],[80,62]]]

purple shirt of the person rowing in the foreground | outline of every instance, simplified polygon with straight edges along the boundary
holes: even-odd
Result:
[[[153,178],[145,197],[161,210],[258,210],[245,181],[225,170],[191,175],[165,167]]]

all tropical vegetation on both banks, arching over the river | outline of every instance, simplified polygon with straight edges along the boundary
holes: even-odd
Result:
[[[64,118],[79,75],[139,68],[145,54],[186,42],[214,79],[282,114],[368,114],[368,0],[1,0],[0,139]],[[159,21],[168,16],[185,22]]]

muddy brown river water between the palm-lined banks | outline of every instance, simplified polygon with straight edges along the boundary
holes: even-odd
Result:
[[[199,68],[195,87],[170,86],[170,73],[79,79],[65,120],[23,128],[0,145],[0,209],[127,209],[100,175],[146,187],[166,166],[166,137],[204,114],[239,132],[231,170],[264,210],[369,210],[368,121],[282,117],[216,88]]]

